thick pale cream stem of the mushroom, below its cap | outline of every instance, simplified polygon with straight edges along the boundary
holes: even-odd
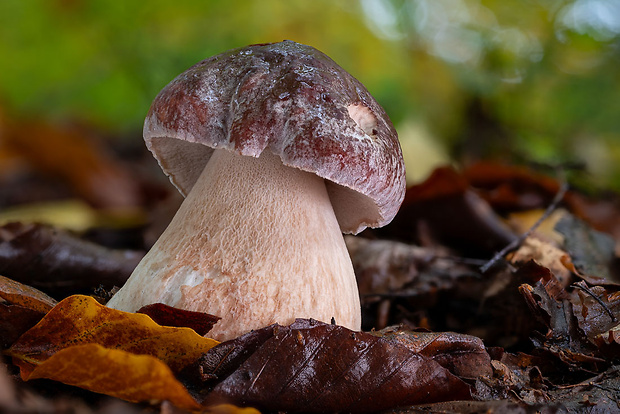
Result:
[[[108,306],[155,302],[222,317],[208,334],[219,340],[295,318],[359,330],[355,274],[323,179],[268,151],[216,150]]]

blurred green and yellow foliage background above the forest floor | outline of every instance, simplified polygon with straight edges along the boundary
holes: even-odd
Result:
[[[0,106],[138,142],[187,67],[283,39],[367,86],[410,182],[500,159],[584,162],[588,182],[620,189],[619,0],[3,0]]]

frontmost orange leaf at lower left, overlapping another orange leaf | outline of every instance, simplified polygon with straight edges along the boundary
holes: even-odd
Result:
[[[62,349],[26,379],[48,378],[131,402],[170,401],[196,410],[198,403],[160,360],[97,344]]]

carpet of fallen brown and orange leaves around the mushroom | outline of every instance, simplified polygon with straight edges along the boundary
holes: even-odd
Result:
[[[543,223],[487,273],[479,270],[531,228],[522,220],[536,221],[560,187],[523,168],[440,168],[408,190],[390,226],[346,239],[365,332],[300,319],[221,344],[201,336],[217,315],[153,304],[143,310],[151,319],[79,295],[104,302],[100,285],[122,285],[140,253],[49,226],[5,225],[0,381],[11,385],[0,407],[73,398],[66,389],[45,396],[53,383],[40,377],[155,412],[613,412],[615,202],[569,190],[553,226]],[[67,299],[57,304],[50,294]],[[183,333],[160,331],[170,329]],[[77,404],[97,411],[98,394],[83,393]]]

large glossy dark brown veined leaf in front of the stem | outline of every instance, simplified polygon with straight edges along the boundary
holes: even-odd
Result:
[[[246,341],[253,351],[240,355],[236,350]],[[216,382],[205,399],[209,404],[368,412],[471,399],[470,387],[436,361],[396,341],[337,325],[298,319],[290,326],[263,328],[220,346],[223,352],[213,348],[195,367],[206,381],[204,387]],[[231,371],[230,364],[232,373],[222,378],[223,372]]]

